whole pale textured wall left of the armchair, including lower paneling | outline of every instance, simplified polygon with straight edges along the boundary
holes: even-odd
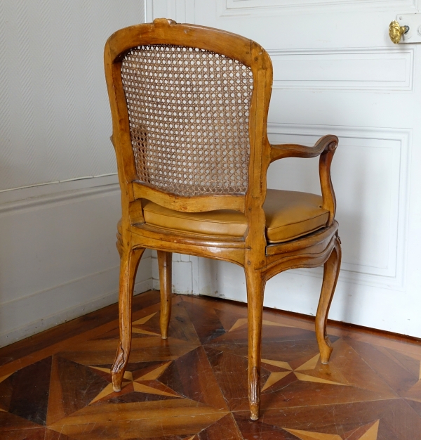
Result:
[[[116,302],[102,53],[144,20],[141,0],[0,2],[0,346]],[[151,287],[147,252],[136,292]]]

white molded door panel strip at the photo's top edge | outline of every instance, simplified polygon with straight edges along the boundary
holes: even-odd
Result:
[[[218,0],[218,15],[273,15],[335,11],[417,12],[417,0]]]

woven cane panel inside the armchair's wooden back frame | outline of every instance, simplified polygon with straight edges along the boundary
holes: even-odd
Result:
[[[184,196],[246,193],[249,67],[199,48],[139,46],[121,77],[141,182]]]

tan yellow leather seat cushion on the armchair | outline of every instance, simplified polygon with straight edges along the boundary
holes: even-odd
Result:
[[[267,190],[265,205],[266,235],[270,243],[293,240],[317,229],[328,221],[329,212],[321,208],[320,195],[298,191]],[[210,212],[179,212],[143,201],[145,223],[171,231],[204,235],[242,237],[246,216],[238,211],[221,209]]]

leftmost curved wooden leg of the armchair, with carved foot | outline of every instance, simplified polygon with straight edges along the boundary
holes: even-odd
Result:
[[[116,358],[112,365],[112,387],[121,391],[121,382],[128,362],[131,347],[132,297],[139,261],[145,249],[122,250],[119,283],[119,323],[120,341]]]

